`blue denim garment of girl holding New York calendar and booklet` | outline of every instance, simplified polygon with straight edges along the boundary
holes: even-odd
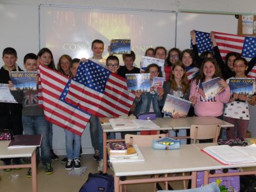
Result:
[[[161,108],[163,107],[163,99],[158,100],[157,97],[158,95],[155,93],[142,93],[140,100],[135,99],[137,104],[136,115],[149,112],[150,103],[152,101],[156,117],[162,117]]]

